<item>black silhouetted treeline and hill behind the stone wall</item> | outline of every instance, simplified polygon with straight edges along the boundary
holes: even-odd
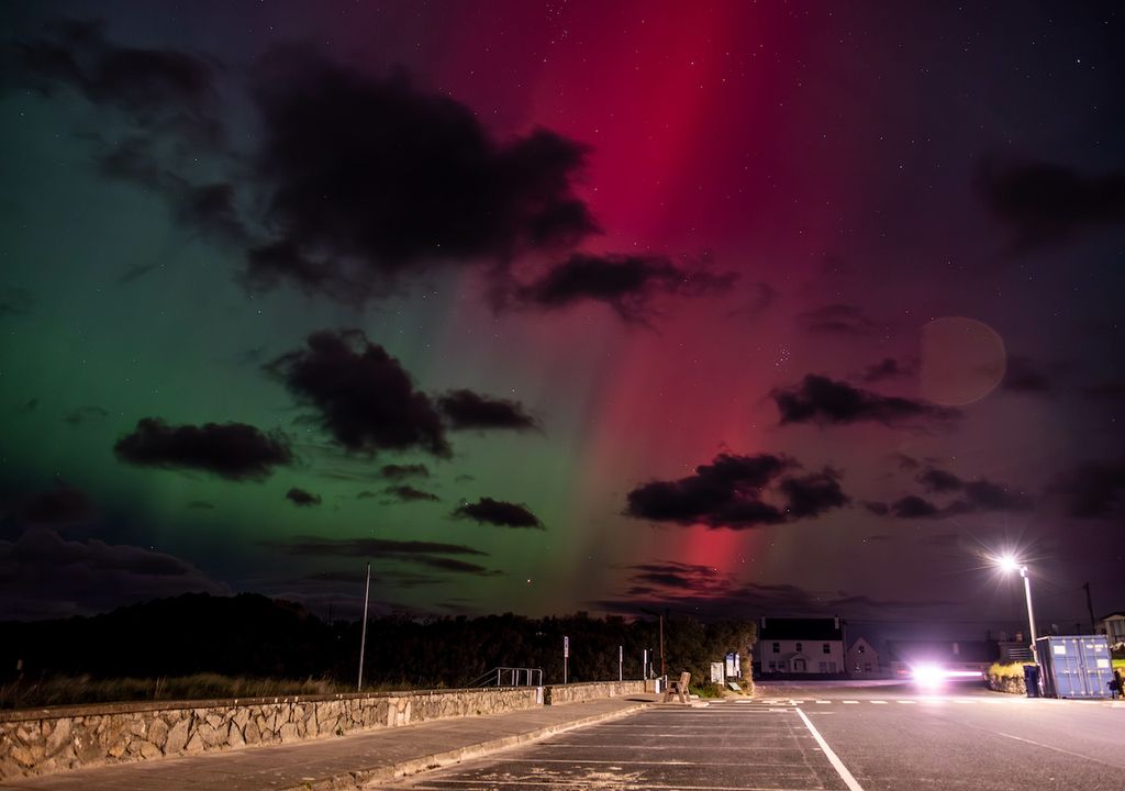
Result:
[[[354,683],[359,621],[325,622],[303,605],[259,594],[189,593],[92,617],[0,622],[0,678],[89,675],[97,678],[230,676],[331,678]],[[364,686],[458,687],[495,667],[539,667],[562,682],[562,638],[570,682],[641,677],[648,649],[660,671],[656,618],[629,621],[585,612],[547,618],[392,614],[368,621]],[[710,663],[737,651],[747,667],[753,621],[665,619],[667,672],[708,677]]]

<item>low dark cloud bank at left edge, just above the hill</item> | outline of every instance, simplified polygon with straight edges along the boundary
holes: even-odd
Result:
[[[46,528],[0,540],[0,618],[92,614],[190,591],[231,593],[190,563],[142,547],[70,541]]]

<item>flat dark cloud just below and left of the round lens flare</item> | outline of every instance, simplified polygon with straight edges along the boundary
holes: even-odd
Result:
[[[843,425],[870,421],[892,426],[940,426],[961,416],[958,410],[926,401],[883,396],[814,374],[806,376],[796,387],[778,388],[771,395],[781,412],[782,425]]]

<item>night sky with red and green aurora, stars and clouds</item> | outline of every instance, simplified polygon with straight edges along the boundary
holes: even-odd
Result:
[[[1123,17],[3,3],[0,617],[1120,610]]]

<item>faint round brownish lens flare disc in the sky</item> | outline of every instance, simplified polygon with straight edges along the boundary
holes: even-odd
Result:
[[[935,318],[921,329],[921,395],[944,406],[979,401],[1004,379],[1004,339],[984,322]]]

